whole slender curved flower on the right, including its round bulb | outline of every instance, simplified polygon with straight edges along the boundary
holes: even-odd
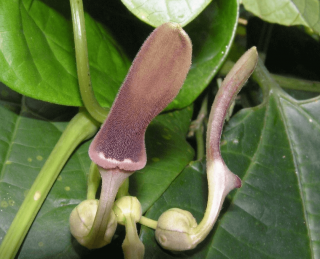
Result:
[[[241,187],[241,180],[226,166],[220,153],[220,138],[230,105],[252,74],[258,60],[255,47],[248,50],[231,69],[212,105],[207,131],[208,203],[198,225],[188,211],[170,209],[164,212],[156,229],[156,239],[168,250],[183,251],[195,248],[211,231],[226,195]]]

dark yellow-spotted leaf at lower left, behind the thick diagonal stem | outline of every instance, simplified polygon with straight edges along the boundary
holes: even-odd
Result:
[[[51,105],[51,109],[42,114],[41,110],[47,109],[47,103],[21,97],[3,86],[0,92],[5,93],[5,97],[0,98],[2,240],[26,192],[67,124],[50,122],[45,115],[49,114],[54,119],[56,117],[51,113],[56,113],[60,118],[61,113],[69,113],[69,108],[59,110],[59,106]],[[190,107],[160,115],[147,130],[147,166],[130,178],[130,192],[140,199],[144,211],[193,158],[194,151],[185,140],[191,115]],[[19,258],[81,258],[90,254],[71,237],[68,222],[71,210],[86,198],[86,174],[90,166],[88,147],[89,142],[81,145],[63,168],[22,245]],[[106,249],[112,249],[112,246]]]

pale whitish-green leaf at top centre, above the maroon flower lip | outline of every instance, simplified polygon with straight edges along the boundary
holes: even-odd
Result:
[[[203,11],[211,0],[121,0],[136,17],[153,27],[166,22],[185,26]]]

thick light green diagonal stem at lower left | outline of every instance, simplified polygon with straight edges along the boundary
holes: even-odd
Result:
[[[97,122],[79,112],[68,124],[29,190],[0,247],[0,258],[14,258],[52,185],[72,152],[98,130]]]

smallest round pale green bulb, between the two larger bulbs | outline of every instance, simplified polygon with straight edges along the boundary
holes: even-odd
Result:
[[[125,224],[125,217],[129,216],[134,222],[138,222],[142,215],[141,204],[136,197],[124,196],[116,200],[113,206],[113,211],[117,217],[119,224]]]

